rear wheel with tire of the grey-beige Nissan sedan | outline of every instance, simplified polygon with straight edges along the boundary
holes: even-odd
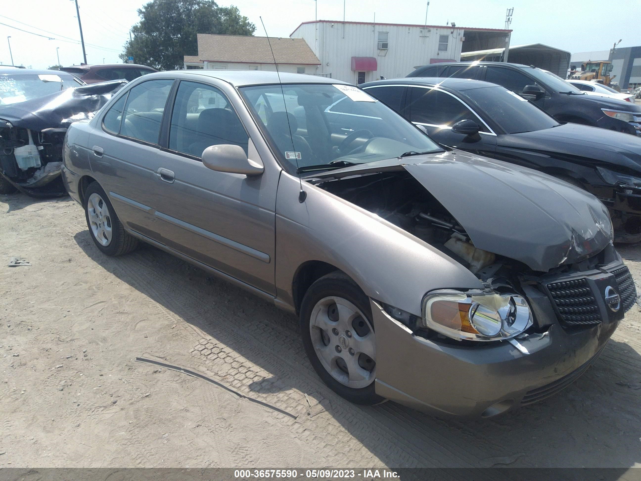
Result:
[[[133,251],[138,239],[122,227],[107,194],[99,183],[92,182],[85,190],[85,219],[96,247],[110,257]]]

